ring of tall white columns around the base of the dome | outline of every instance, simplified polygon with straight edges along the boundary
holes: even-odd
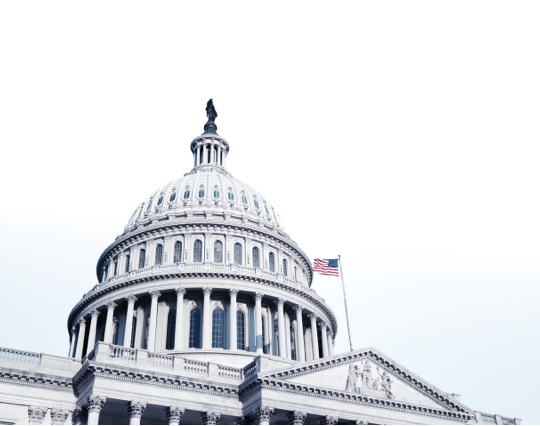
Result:
[[[330,327],[314,311],[300,304],[291,303],[275,296],[267,296],[261,292],[253,293],[236,288],[213,290],[211,287],[205,286],[195,290],[190,289],[189,299],[185,297],[185,288],[179,287],[174,291],[176,292],[176,300],[173,300],[172,291],[164,292],[165,299],[171,306],[167,302],[159,302],[162,297],[160,291],[150,290],[148,293],[137,294],[137,296],[130,294],[123,300],[110,300],[101,307],[101,310],[93,309],[85,317],[79,318],[78,327],[72,327],[69,356],[81,359],[85,354],[91,352],[97,340],[98,316],[103,313],[106,315],[103,332],[104,343],[115,343],[125,347],[134,346],[147,349],[150,352],[164,351],[166,350],[166,337],[163,336],[167,336],[167,327],[172,327],[173,323],[168,323],[169,318],[160,309],[170,309],[173,304],[176,306],[174,345],[169,347],[169,350],[179,351],[190,347],[190,332],[194,333],[193,329],[190,329],[191,318],[189,314],[192,309],[200,309],[202,314],[201,344],[200,347],[192,346],[192,348],[213,349],[212,330],[216,325],[213,323],[212,315],[215,309],[221,309],[220,306],[222,306],[223,315],[225,310],[228,311],[228,321],[224,321],[221,325],[223,327],[221,332],[223,336],[228,338],[223,338],[222,346],[214,346],[214,348],[246,349],[251,352],[268,353],[301,362],[327,357],[333,353],[333,335]],[[200,303],[201,293],[202,306]],[[212,298],[212,294],[216,296],[215,299]],[[244,303],[238,303],[239,295]],[[139,300],[142,303],[135,309],[135,303]],[[120,311],[119,306],[121,306],[122,311]],[[243,324],[237,323],[238,311],[246,314]],[[115,315],[123,317],[124,313],[125,321],[121,324]],[[247,314],[253,316],[251,323],[247,321]],[[136,327],[134,327],[134,318],[137,321]],[[115,333],[115,327],[120,326],[123,326],[123,333],[120,333],[123,338],[116,338],[116,341],[113,342],[115,334],[119,331],[116,330],[117,333]],[[143,326],[146,327],[144,331]],[[89,327],[88,332],[87,327]],[[172,330],[170,331],[172,333]],[[245,347],[239,348],[239,331],[243,333],[242,339],[247,340],[248,344]],[[142,342],[144,334],[146,334],[146,345]],[[319,336],[321,338],[320,344]],[[85,344],[86,353],[84,353]]]

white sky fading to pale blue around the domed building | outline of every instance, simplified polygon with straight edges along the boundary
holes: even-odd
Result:
[[[355,349],[540,423],[536,2],[0,3],[0,346],[66,355],[136,206],[228,170],[341,254]],[[340,281],[314,288],[340,321]]]

